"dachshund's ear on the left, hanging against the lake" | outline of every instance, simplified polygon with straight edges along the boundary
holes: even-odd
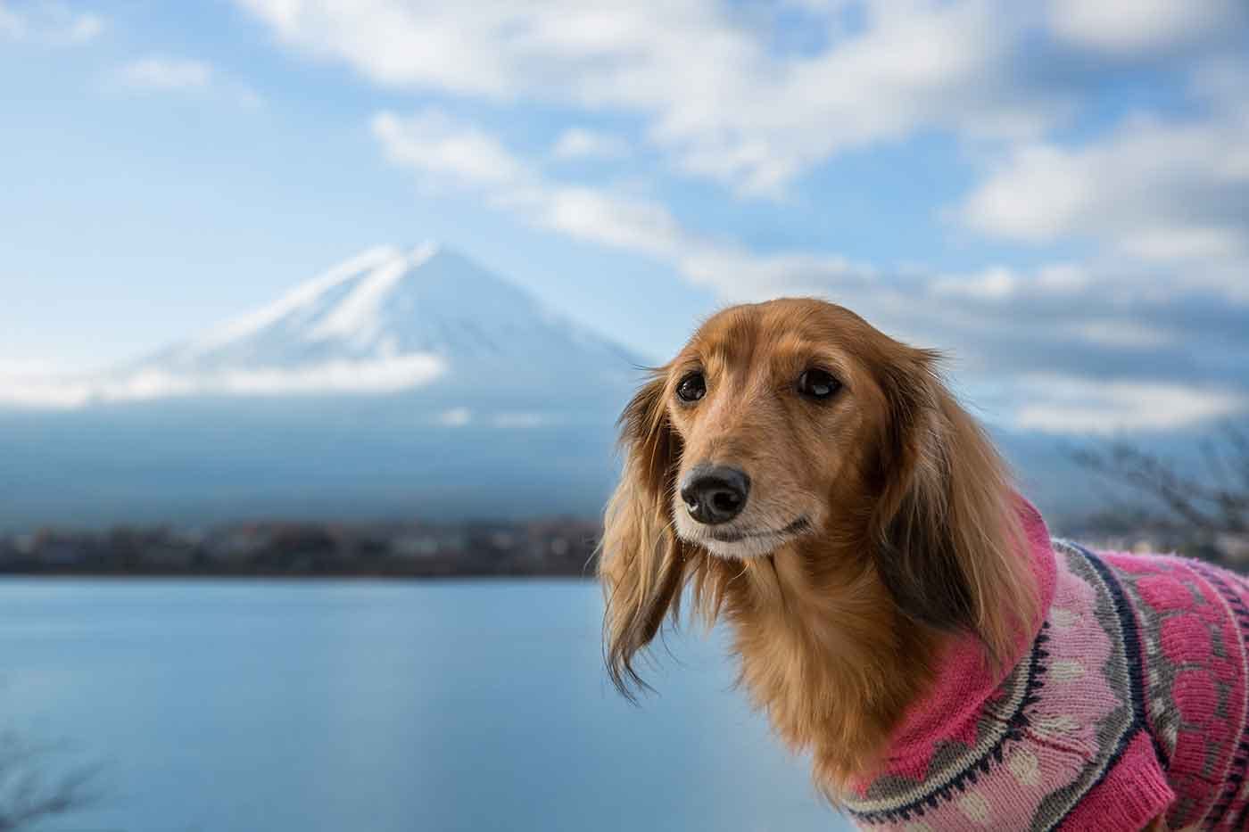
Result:
[[[598,577],[607,612],[603,655],[617,690],[633,698],[646,682],[633,667],[663,618],[679,612],[684,545],[672,530],[672,493],[681,438],[664,406],[666,377],[648,381],[621,414],[624,470],[607,505]]]

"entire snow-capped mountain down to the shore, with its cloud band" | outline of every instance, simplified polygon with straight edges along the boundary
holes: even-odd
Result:
[[[0,528],[597,512],[642,364],[461,254],[372,249],[111,371],[0,389]]]

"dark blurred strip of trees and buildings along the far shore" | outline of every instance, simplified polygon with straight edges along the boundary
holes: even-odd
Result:
[[[0,536],[0,573],[267,577],[593,577],[597,520],[246,522]]]

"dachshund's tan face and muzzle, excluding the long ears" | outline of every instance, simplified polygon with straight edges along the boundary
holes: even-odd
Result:
[[[676,442],[677,535],[712,555],[767,555],[837,526],[901,426],[929,356],[829,304],[774,301],[711,319],[656,379]],[[893,384],[884,375],[902,375]],[[876,480],[876,481],[873,481]],[[878,490],[878,488],[877,488]]]

